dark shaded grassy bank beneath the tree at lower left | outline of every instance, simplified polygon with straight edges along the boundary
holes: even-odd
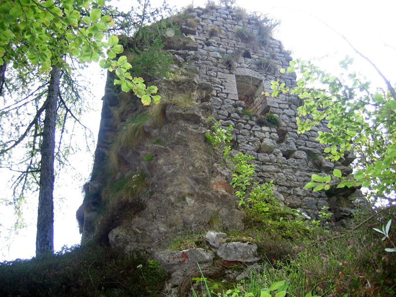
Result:
[[[138,268],[142,265],[141,268]],[[165,272],[105,246],[0,263],[0,296],[161,296]]]

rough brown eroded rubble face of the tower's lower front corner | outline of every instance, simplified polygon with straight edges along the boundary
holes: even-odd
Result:
[[[221,159],[210,155],[205,144],[208,123],[201,113],[206,103],[183,110],[175,105],[165,109],[167,123],[158,131],[145,125],[164,146],[150,144],[150,138],[139,147],[139,155],[122,153],[126,172],[142,169],[149,181],[150,197],[145,209],[128,225],[109,234],[110,243],[128,250],[166,247],[172,238],[186,230],[204,231],[215,217],[225,228],[243,229],[243,214],[230,186],[231,171],[219,170]],[[144,156],[153,154],[151,161]],[[227,174],[225,174],[227,173]]]

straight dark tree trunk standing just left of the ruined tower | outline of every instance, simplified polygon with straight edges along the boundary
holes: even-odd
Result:
[[[53,253],[53,161],[55,151],[56,103],[60,69],[52,68],[46,100],[43,143],[41,147],[39,213],[37,217],[36,256]]]

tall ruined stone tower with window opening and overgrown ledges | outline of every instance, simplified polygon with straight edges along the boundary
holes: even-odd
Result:
[[[205,142],[213,125],[208,116],[224,128],[233,125],[232,148],[254,156],[254,180],[273,181],[275,197],[282,203],[312,219],[324,205],[330,207],[334,222],[349,218],[355,209],[352,201],[364,201],[359,190],[350,196],[356,189],[326,194],[303,187],[313,173],[327,175],[338,168],[350,174],[353,156],[327,162],[324,147],[315,140],[325,127],[297,134],[302,100],[289,94],[262,95],[272,93],[271,80],[290,88],[296,84],[295,73],[279,72],[292,57],[270,36],[265,23],[221,7],[189,9],[178,19],[181,36],[170,30],[162,38],[172,55],[174,76],[141,74],[148,86],[159,89],[157,107],[143,107],[132,93],[121,92],[113,84],[114,74],[108,73],[92,179],[80,207],[83,241],[101,232],[113,246],[149,251],[165,249],[186,233],[213,229],[213,222],[223,230],[243,230],[243,212],[230,186],[232,171],[221,151]],[[126,38],[124,48],[133,42]],[[134,141],[122,142],[126,123],[146,110],[155,116],[134,126],[140,129],[132,129],[138,134]],[[275,115],[279,125],[269,125],[267,114]],[[130,197],[123,193],[118,206],[108,202],[117,190],[114,185],[142,176],[144,190]],[[103,201],[111,211],[99,210]],[[106,226],[98,231],[100,224]]]

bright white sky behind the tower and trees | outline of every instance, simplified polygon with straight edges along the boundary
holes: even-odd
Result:
[[[113,5],[121,7],[128,0],[113,1]],[[189,4],[186,1],[171,0],[170,5],[183,7]],[[204,7],[205,1],[194,1],[194,6]],[[382,73],[396,83],[396,1],[394,0],[238,0],[237,5],[248,11],[262,11],[271,17],[282,20],[275,37],[282,41],[286,49],[292,50],[294,58],[312,59],[323,57],[317,64],[326,70],[338,68],[338,62],[348,54],[355,57],[354,69],[361,71],[375,86],[384,87],[384,83],[375,70],[362,58],[357,57],[347,43],[321,21],[343,34],[356,49],[369,57]],[[321,20],[321,21],[320,21]],[[390,47],[385,46],[387,44]],[[393,48],[391,48],[393,47]],[[92,65],[93,66],[93,65]],[[92,91],[95,94],[96,112],[83,117],[83,123],[91,128],[94,135],[98,135],[101,97],[104,92],[105,77],[93,75],[98,73],[98,68],[92,67],[91,77]],[[73,165],[81,171],[83,180],[65,179],[58,182],[61,187],[57,188],[54,196],[63,198],[61,203],[55,204],[54,240],[55,249],[59,250],[63,245],[74,245],[80,242],[80,235],[75,220],[75,211],[82,203],[81,186],[84,179],[90,175],[92,159],[89,154],[79,154],[75,157]],[[3,186],[7,176],[0,171],[0,187]],[[2,195],[9,195],[6,189]],[[26,222],[28,228],[19,231],[18,236],[13,237],[13,242],[6,246],[6,232],[0,229],[0,261],[15,258],[30,258],[35,254],[36,222],[37,222],[37,198],[33,197],[32,204],[28,205]],[[61,205],[59,205],[61,204]],[[61,207],[61,209],[60,209]],[[12,208],[0,208],[0,217]],[[3,226],[6,222],[0,220]]]

